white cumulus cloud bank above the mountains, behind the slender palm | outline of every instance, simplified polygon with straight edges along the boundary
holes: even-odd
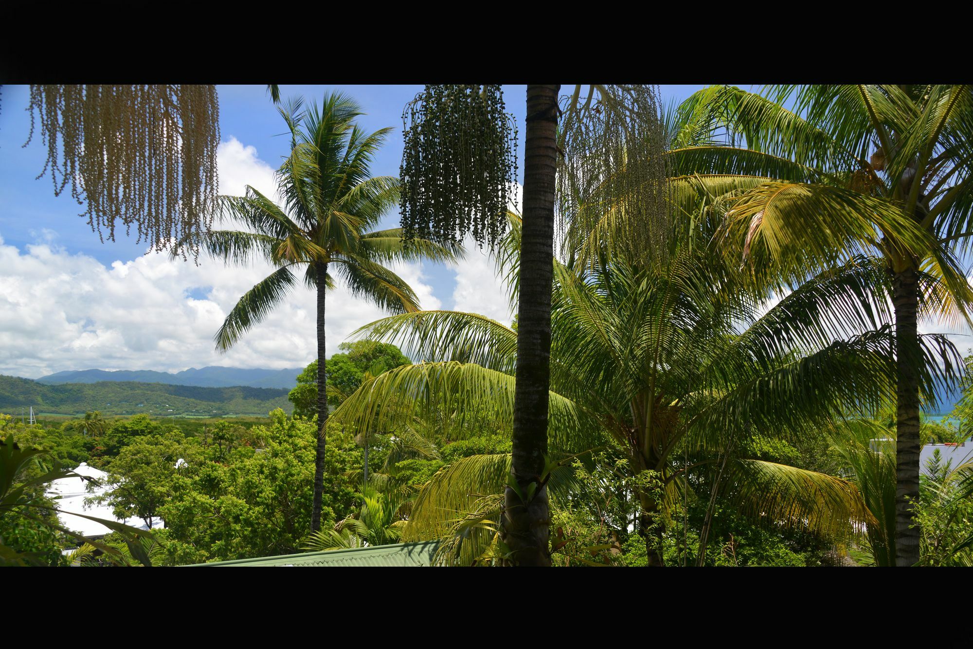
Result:
[[[235,139],[219,149],[221,193],[244,184],[272,196],[273,171],[253,147]],[[2,233],[0,233],[2,234]],[[200,257],[199,266],[149,254],[110,268],[73,254],[40,233],[22,249],[0,236],[0,374],[38,378],[62,370],[159,370],[224,365],[301,367],[316,354],[313,293],[303,285],[226,354],[213,336],[244,292],[270,273],[267,264],[227,268]],[[424,308],[440,301],[420,264],[392,267]],[[358,327],[384,313],[351,298],[340,285],[328,294],[330,355]]]

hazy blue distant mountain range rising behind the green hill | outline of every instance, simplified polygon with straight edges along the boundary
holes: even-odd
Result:
[[[57,372],[37,379],[39,383],[97,383],[101,381],[138,381],[140,383],[166,383],[168,385],[198,385],[199,387],[276,387],[291,389],[298,384],[297,377],[304,368],[290,370],[241,370],[219,366],[190,368],[170,374],[153,370],[74,370]]]

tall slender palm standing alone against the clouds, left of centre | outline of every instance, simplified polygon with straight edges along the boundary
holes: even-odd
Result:
[[[320,109],[315,105],[303,111],[300,101],[292,101],[278,110],[292,144],[277,172],[283,207],[248,186],[245,197],[221,197],[224,216],[243,229],[213,231],[202,238],[203,249],[227,263],[260,258],[276,269],[239,299],[216,334],[216,346],[226,351],[260,322],[298,284],[294,271],[303,268],[306,286],[317,293],[317,384],[327,385],[325,298],[336,277],[352,295],[382,308],[415,311],[418,300],[412,288],[383,264],[454,262],[461,250],[425,239],[405,244],[399,229],[370,232],[399,198],[396,178],[369,174],[390,128],[366,133],[355,126],[361,110],[338,92],[325,96]],[[318,389],[311,531],[320,527],[321,519],[327,398],[327,390]]]

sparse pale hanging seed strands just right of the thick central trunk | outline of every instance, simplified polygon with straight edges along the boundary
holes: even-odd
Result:
[[[570,240],[572,231],[600,231],[598,240],[635,258],[667,258],[671,220],[659,91],[594,86],[588,97],[576,92],[561,104],[559,240],[573,250],[580,241]]]

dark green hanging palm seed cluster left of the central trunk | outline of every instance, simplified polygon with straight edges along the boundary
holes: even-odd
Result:
[[[402,113],[402,229],[492,249],[516,200],[517,124],[499,86],[426,86]]]

